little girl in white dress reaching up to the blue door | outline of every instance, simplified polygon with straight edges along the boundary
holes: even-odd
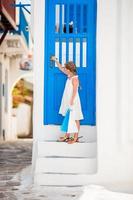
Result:
[[[81,109],[81,103],[78,93],[78,87],[79,87],[79,79],[76,72],[76,66],[73,62],[69,61],[65,64],[65,67],[63,67],[55,58],[55,56],[51,57],[52,61],[56,62],[56,65],[58,68],[67,75],[67,81],[61,101],[61,106],[59,109],[59,114],[65,116],[67,110],[69,108],[72,109],[73,116],[77,125],[77,133],[74,133],[74,137],[70,138],[70,133],[66,133],[64,137],[60,137],[59,141],[66,141],[69,144],[73,144],[75,142],[78,142],[78,133],[80,130],[80,121],[83,119],[82,109]]]

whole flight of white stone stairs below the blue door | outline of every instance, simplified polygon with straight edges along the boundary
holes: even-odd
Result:
[[[48,131],[49,132],[49,131]],[[56,142],[60,135],[44,134],[38,140],[35,183],[49,186],[87,184],[86,175],[97,172],[96,127],[81,127],[79,143]]]

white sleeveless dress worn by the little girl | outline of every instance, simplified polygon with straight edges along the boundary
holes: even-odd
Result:
[[[73,93],[73,85],[72,85],[72,79],[78,77],[77,75],[68,78],[66,81],[62,101],[61,101],[61,106],[59,109],[59,114],[65,116],[67,110],[70,108],[70,100],[72,97]],[[74,104],[71,106],[72,112],[73,112],[73,117],[75,120],[81,120],[83,119],[83,113],[82,113],[82,108],[81,108],[81,103],[80,103],[80,97],[79,93],[77,90],[76,96],[74,98]]]

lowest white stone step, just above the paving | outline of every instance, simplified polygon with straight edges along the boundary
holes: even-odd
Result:
[[[83,186],[93,184],[96,175],[68,175],[68,174],[43,174],[38,173],[34,177],[37,185],[45,186]]]

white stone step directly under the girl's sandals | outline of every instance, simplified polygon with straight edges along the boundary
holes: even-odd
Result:
[[[38,157],[96,157],[97,143],[38,142]]]

